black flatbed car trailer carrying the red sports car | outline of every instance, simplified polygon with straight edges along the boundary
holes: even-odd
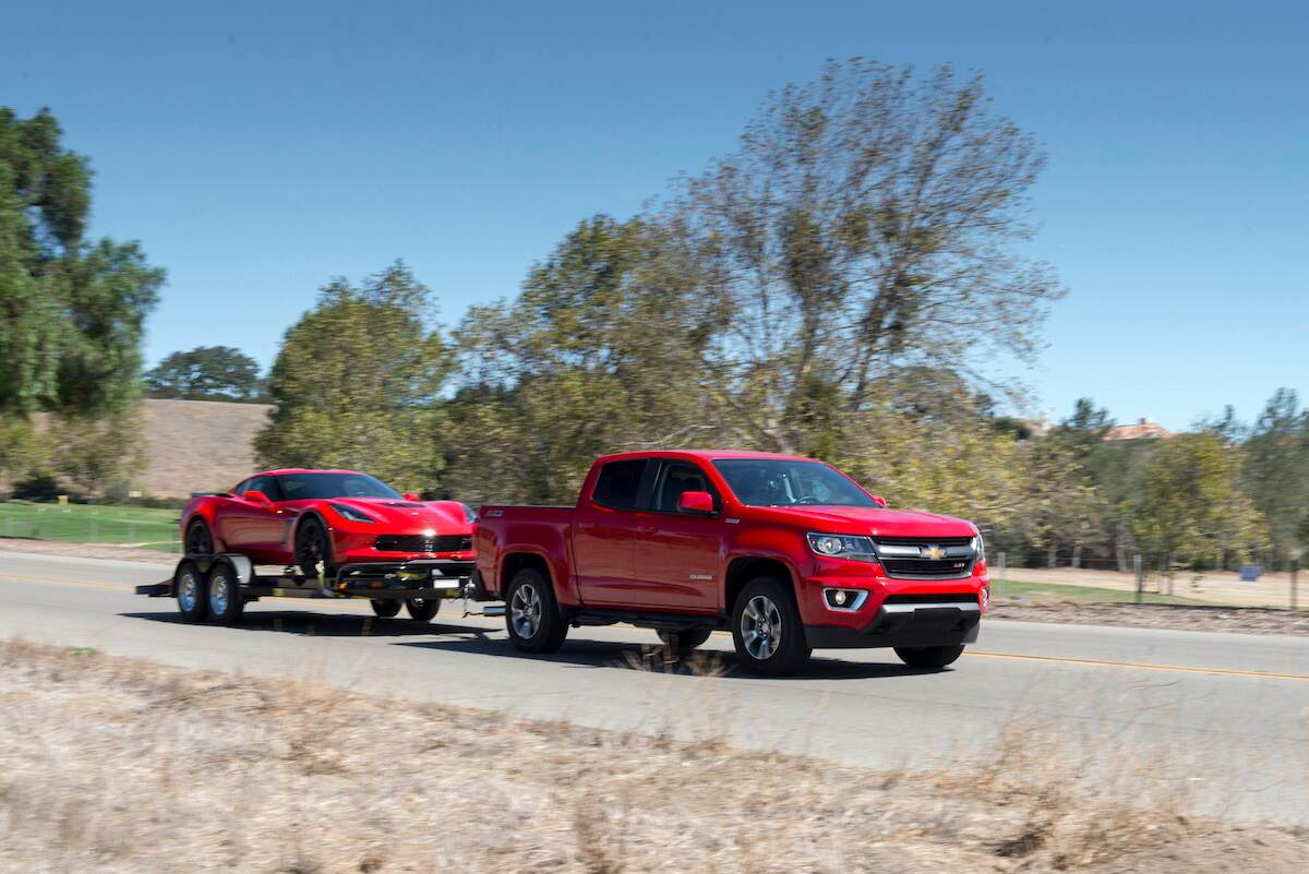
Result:
[[[177,598],[186,620],[212,619],[224,625],[238,624],[245,606],[262,598],[367,599],[384,619],[395,616],[403,604],[412,619],[429,621],[441,601],[473,595],[471,572],[471,561],[412,559],[346,564],[318,577],[291,568],[263,576],[255,573],[254,563],[243,555],[187,555],[169,580],[136,586],[136,594]],[[487,607],[482,612],[503,615],[503,610]],[[467,604],[463,612],[470,615]]]

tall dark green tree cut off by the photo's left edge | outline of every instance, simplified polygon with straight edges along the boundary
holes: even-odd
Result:
[[[136,243],[85,238],[90,169],[60,135],[0,107],[0,415],[131,406],[164,283]]]

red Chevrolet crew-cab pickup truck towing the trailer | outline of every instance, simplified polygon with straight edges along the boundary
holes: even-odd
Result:
[[[474,586],[509,637],[548,653],[569,627],[631,623],[690,649],[730,629],[766,674],[814,649],[893,646],[940,669],[987,608],[977,526],[886,502],[823,462],[742,451],[606,455],[576,506],[484,506]]]

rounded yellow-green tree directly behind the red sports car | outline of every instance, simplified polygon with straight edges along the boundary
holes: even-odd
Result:
[[[399,488],[440,468],[441,387],[453,358],[432,294],[397,262],[360,288],[326,285],[285,335],[272,365],[263,463],[350,467]]]

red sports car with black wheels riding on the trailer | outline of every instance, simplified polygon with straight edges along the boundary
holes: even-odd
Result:
[[[466,504],[420,501],[357,471],[276,470],[192,497],[182,543],[188,555],[236,552],[317,577],[356,561],[471,563],[474,518]]]

